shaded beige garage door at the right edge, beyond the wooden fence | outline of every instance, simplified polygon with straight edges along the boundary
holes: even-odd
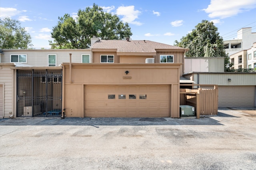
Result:
[[[218,107],[254,107],[255,86],[218,86]]]

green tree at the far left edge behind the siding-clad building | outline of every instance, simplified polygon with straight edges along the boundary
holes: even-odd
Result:
[[[11,18],[0,19],[0,48],[1,49],[28,49],[31,36],[20,26],[20,22]]]

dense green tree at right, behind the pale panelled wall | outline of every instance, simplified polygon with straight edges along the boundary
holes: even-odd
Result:
[[[224,68],[228,71],[226,65],[231,66],[229,57],[225,52],[223,39],[217,31],[218,28],[213,22],[202,20],[191,33],[183,36],[180,42],[176,40],[174,45],[188,48],[186,57],[225,57]]]

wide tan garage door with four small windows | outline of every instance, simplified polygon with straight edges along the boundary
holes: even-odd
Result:
[[[170,85],[86,85],[85,117],[170,117]]]

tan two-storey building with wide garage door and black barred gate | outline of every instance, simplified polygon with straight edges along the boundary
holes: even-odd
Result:
[[[92,43],[84,50],[3,50],[2,61],[18,60],[10,66],[13,108],[3,117],[60,117],[63,109],[66,117],[180,117],[188,49],[146,40]]]

